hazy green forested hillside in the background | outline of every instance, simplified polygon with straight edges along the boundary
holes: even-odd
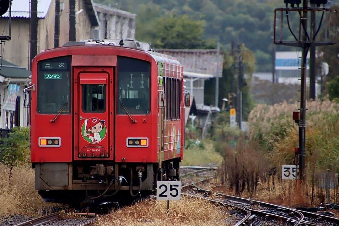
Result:
[[[245,43],[256,56],[260,71],[271,69],[273,12],[284,6],[280,0],[95,0],[112,7],[136,13],[136,37],[158,45],[157,23],[160,17],[172,15],[172,20],[188,15],[184,20],[205,21],[202,39],[220,39],[225,48],[231,41]],[[178,20],[176,20],[178,21]],[[164,25],[164,24],[163,24]],[[185,30],[189,33],[192,30]],[[208,44],[207,44],[208,45]],[[278,47],[279,49],[280,47]]]

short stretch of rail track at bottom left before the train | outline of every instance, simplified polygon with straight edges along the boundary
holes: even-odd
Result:
[[[93,225],[96,221],[97,221],[97,217],[95,214],[87,214],[87,213],[77,213],[76,215],[80,215],[83,216],[83,218],[60,218],[60,211],[59,212],[55,212],[55,213],[51,213],[51,214],[47,214],[44,216],[40,216],[38,218],[34,218],[32,220],[20,223],[20,224],[16,224],[14,226],[35,226],[35,225],[47,225],[48,226],[59,226],[59,225],[63,225],[63,226],[90,226]]]

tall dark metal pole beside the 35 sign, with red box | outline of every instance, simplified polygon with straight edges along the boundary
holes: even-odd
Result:
[[[303,9],[307,9],[307,0],[303,0]],[[301,23],[307,29],[307,11],[302,11]],[[307,40],[306,32],[303,31],[302,41]],[[305,129],[306,129],[306,57],[309,46],[302,46],[301,59],[301,94],[300,94],[300,121],[299,121],[299,178],[305,179]]]

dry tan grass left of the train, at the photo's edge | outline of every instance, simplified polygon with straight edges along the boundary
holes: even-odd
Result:
[[[34,169],[28,165],[9,166],[0,164],[0,218],[11,214],[41,215],[54,204],[43,202],[34,189]]]

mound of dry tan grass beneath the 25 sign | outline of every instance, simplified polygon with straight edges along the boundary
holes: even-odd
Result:
[[[201,199],[181,197],[171,201],[167,214],[167,202],[148,200],[117,210],[99,219],[96,226],[106,225],[228,225],[222,207]]]

